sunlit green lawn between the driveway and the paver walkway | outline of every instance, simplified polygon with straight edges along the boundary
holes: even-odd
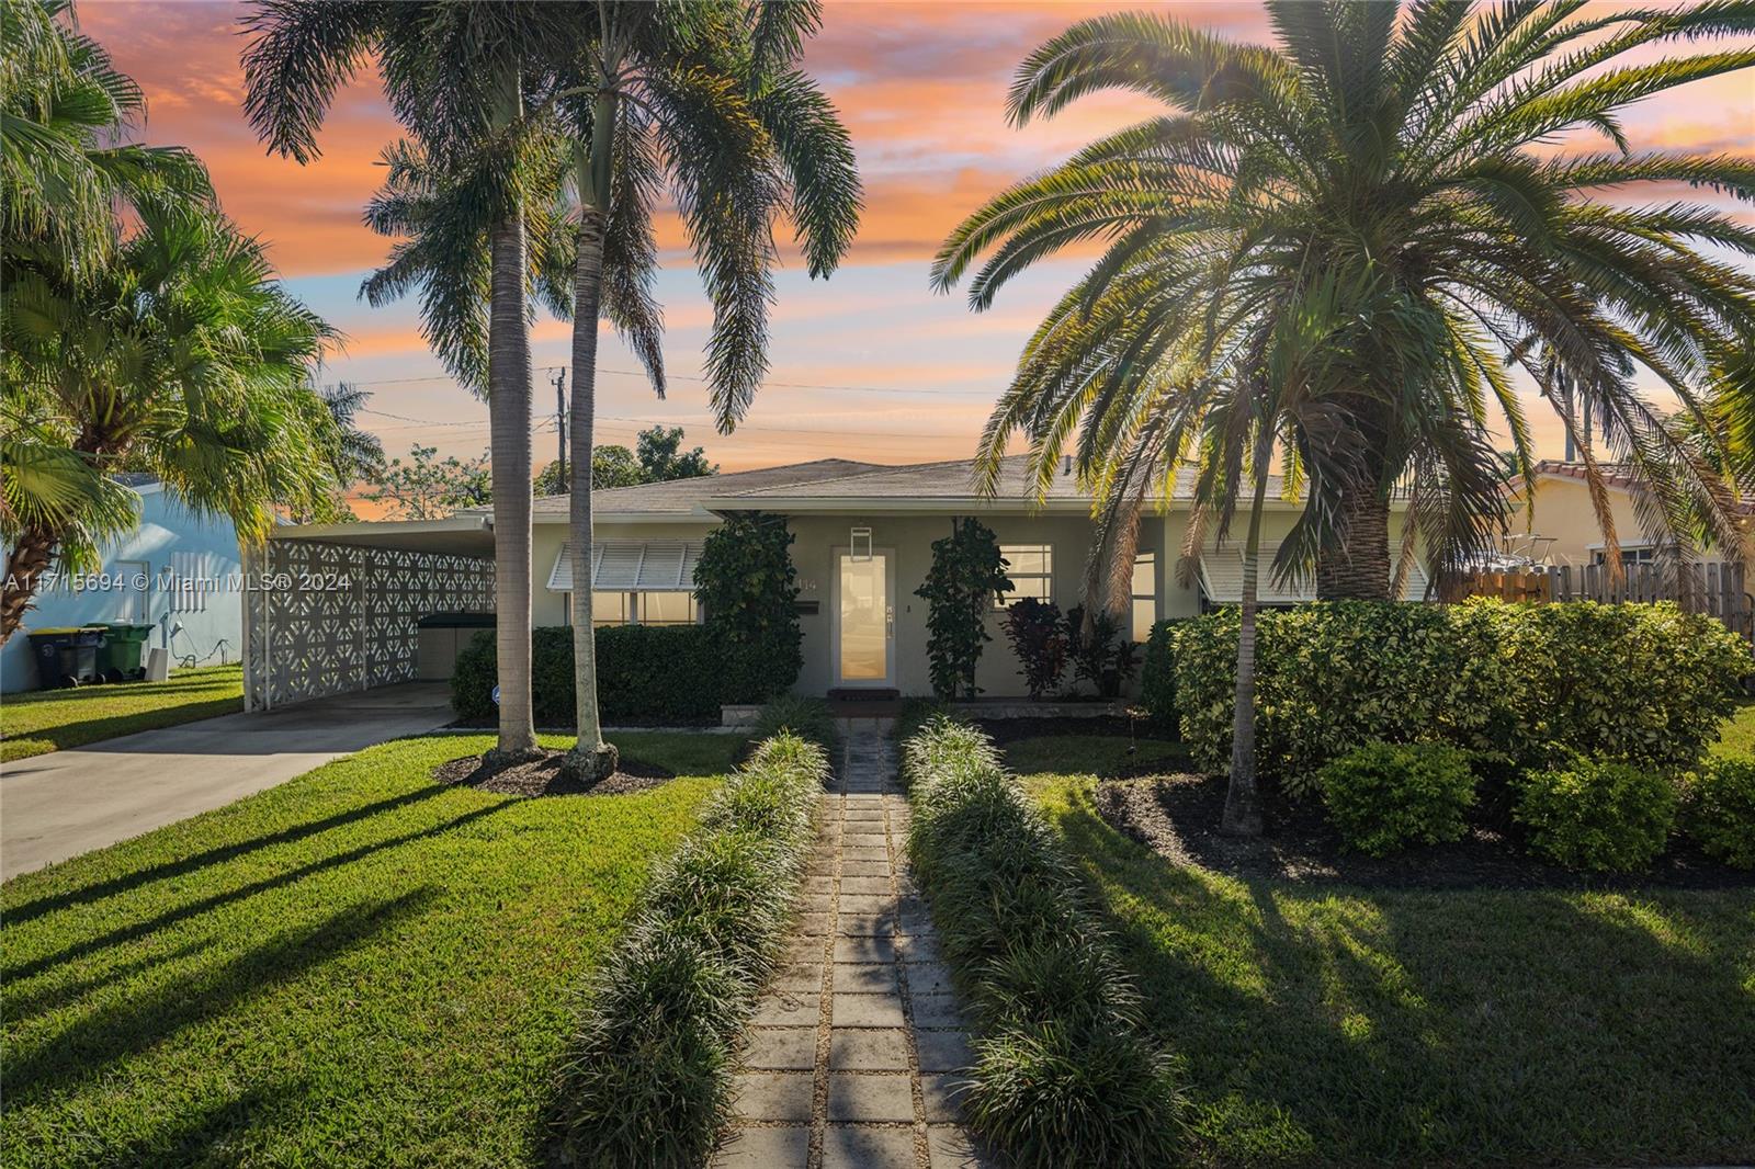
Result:
[[[518,1165],[591,964],[693,827],[684,776],[516,799],[426,779],[488,737],[362,751],[0,886],[0,1164]]]

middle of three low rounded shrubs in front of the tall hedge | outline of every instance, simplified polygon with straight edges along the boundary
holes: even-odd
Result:
[[[1523,776],[1513,814],[1550,860],[1629,872],[1664,851],[1676,823],[1676,785],[1634,764],[1578,758]]]

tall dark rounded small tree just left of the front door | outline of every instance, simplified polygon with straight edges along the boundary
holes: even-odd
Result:
[[[799,570],[784,516],[735,513],[707,534],[695,565],[695,600],[727,649],[725,667],[742,674],[727,686],[728,695],[760,702],[799,679]]]

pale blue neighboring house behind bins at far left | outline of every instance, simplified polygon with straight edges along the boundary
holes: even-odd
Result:
[[[0,649],[5,693],[37,688],[28,634],[39,628],[156,625],[147,649],[168,648],[172,671],[242,658],[242,565],[232,521],[197,516],[151,476],[123,483],[140,497],[140,527],[104,549],[104,569],[93,579],[60,577],[37,593],[23,628]]]

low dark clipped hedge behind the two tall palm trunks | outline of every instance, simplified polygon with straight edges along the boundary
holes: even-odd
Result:
[[[456,655],[451,709],[488,723],[497,711],[495,637]],[[772,679],[741,646],[723,644],[704,625],[604,625],[597,630],[597,706],[605,723],[716,723],[725,702],[760,702]],[[574,723],[572,628],[532,632],[530,690],[539,727]]]

